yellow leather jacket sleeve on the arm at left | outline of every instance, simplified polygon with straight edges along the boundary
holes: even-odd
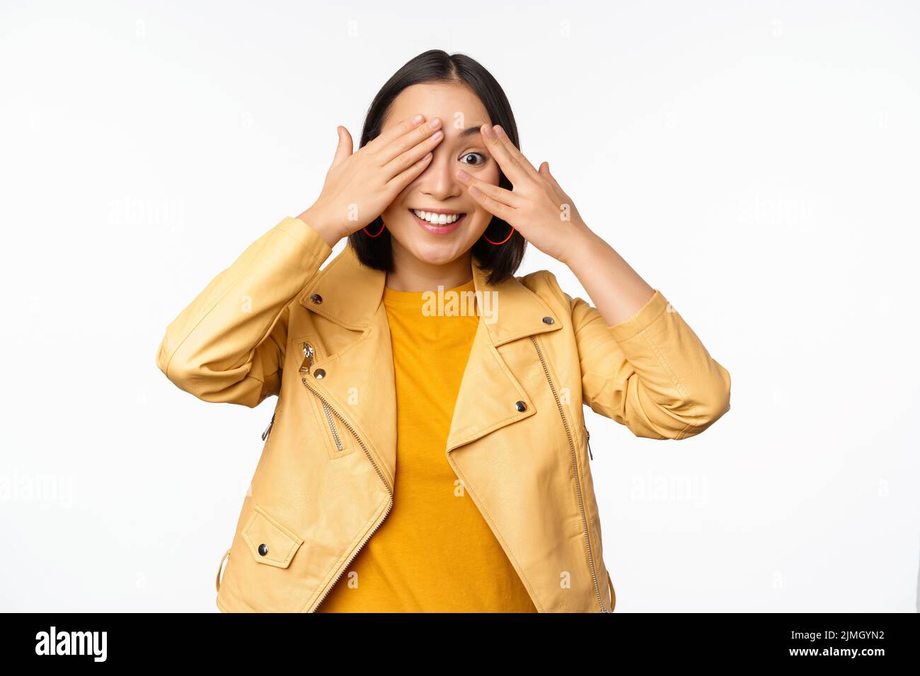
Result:
[[[290,302],[331,251],[309,225],[284,218],[169,324],[156,366],[203,401],[256,407],[278,394]]]

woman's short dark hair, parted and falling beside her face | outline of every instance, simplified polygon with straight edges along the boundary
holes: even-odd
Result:
[[[511,104],[508,103],[508,97],[505,96],[498,81],[475,59],[461,53],[448,54],[443,50],[429,50],[420,53],[386,81],[386,84],[374,97],[370,108],[367,109],[359,147],[363,147],[380,135],[386,111],[403,89],[426,82],[469,86],[482,101],[482,105],[489,113],[491,123],[500,124],[511,142],[517,148],[521,147]],[[511,181],[501,170],[499,170],[499,186],[512,189]],[[358,255],[358,259],[369,268],[392,271],[393,241],[390,232],[384,229],[383,219],[377,216],[373,223],[367,225],[367,229],[372,233],[381,232],[381,235],[371,237],[363,229],[349,235],[349,242]],[[507,280],[521,265],[524,247],[527,244],[521,233],[515,230],[511,238],[500,246],[489,244],[485,239],[485,235],[488,235],[492,241],[500,242],[508,236],[510,229],[511,225],[498,216],[492,216],[484,236],[479,237],[472,246],[473,258],[476,259],[479,269],[489,270],[489,284]]]

